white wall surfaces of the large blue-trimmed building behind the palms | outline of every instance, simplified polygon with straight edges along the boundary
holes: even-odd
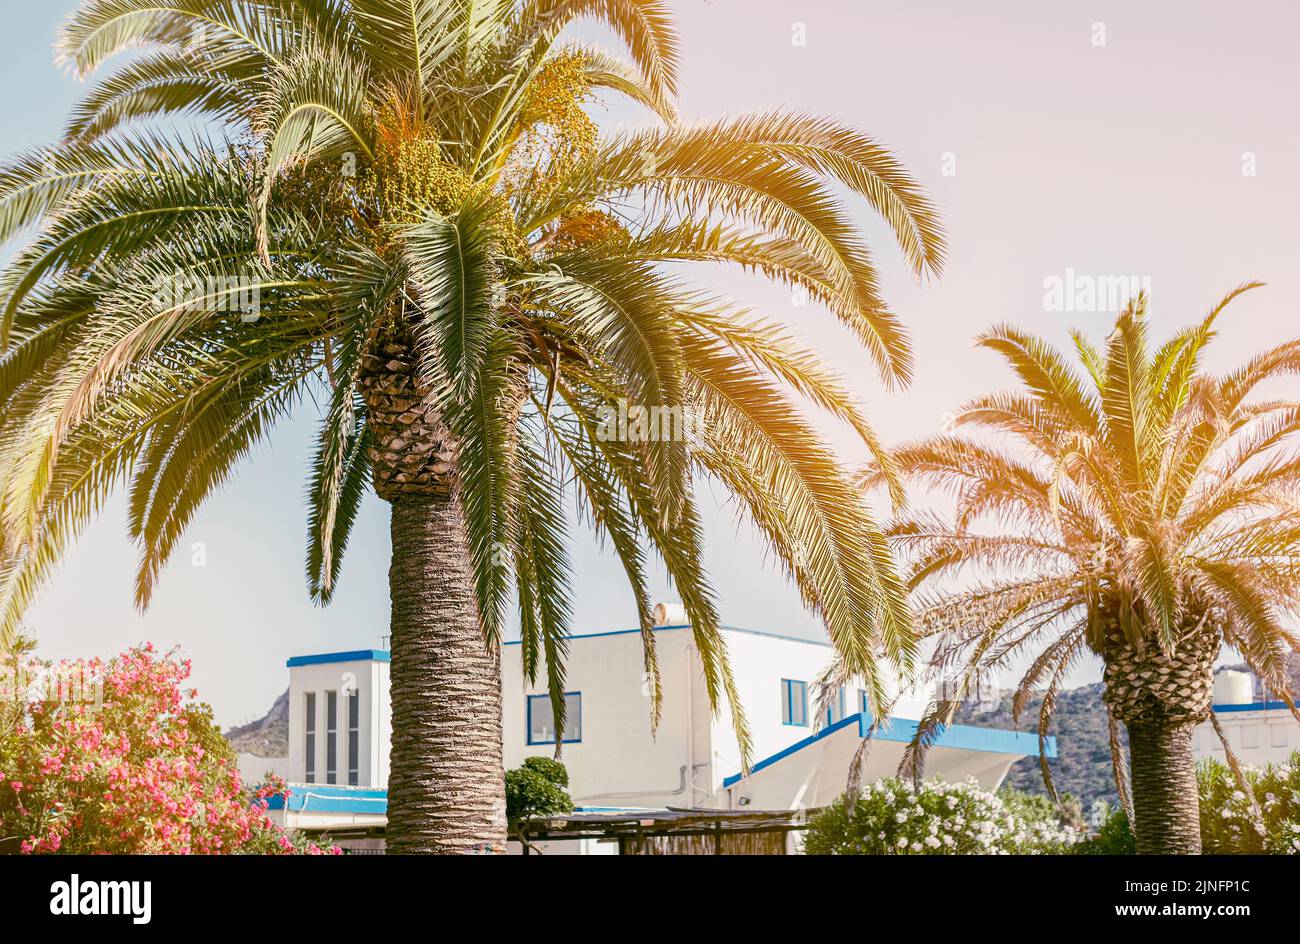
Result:
[[[833,650],[826,645],[792,637],[772,636],[729,628],[724,631],[733,676],[745,707],[753,739],[751,759],[757,763],[785,750],[820,728],[816,719],[819,675],[828,667]],[[569,772],[569,793],[577,806],[585,807],[664,807],[727,806],[738,802],[723,789],[723,780],[741,770],[740,748],[732,728],[731,711],[724,703],[714,715],[710,709],[703,670],[686,627],[662,627],[655,632],[659,675],[663,685],[662,719],[651,729],[650,687],[645,674],[642,640],[638,632],[610,632],[577,636],[569,640],[567,658],[567,692],[581,694],[581,740],[562,745],[562,759]],[[369,654],[368,654],[369,655]],[[784,679],[806,683],[807,724],[783,720]],[[529,744],[528,697],[546,697],[545,666],[540,667],[536,684],[526,683],[519,644],[506,644],[502,653],[504,763],[517,767],[526,757],[554,757],[554,744]],[[360,758],[359,787],[385,788],[389,778],[391,707],[389,701],[389,663],[386,654],[365,659],[311,661],[290,670],[289,757],[282,761],[257,758],[254,763],[277,763],[291,783],[306,781],[306,696],[316,693],[316,783],[326,783],[326,692],[339,692],[338,772],[335,783],[347,784],[347,702],[348,687],[360,693]],[[898,698],[893,714],[898,718],[922,716],[924,698],[909,694]],[[859,710],[859,685],[845,690],[845,713]],[[841,739],[844,740],[844,739]],[[853,741],[855,749],[857,741]],[[1300,739],[1292,740],[1300,746]],[[807,749],[801,765],[790,766],[790,776],[806,778],[806,761],[815,759],[828,748],[818,744]],[[889,759],[888,745],[875,753],[880,763]],[[1018,755],[982,752],[942,752],[936,757],[935,771],[946,779],[972,775],[982,783],[1001,780]],[[849,752],[852,755],[852,750]],[[815,792],[835,796],[842,789],[849,755],[826,758],[822,774],[826,784],[807,784],[800,793]],[[879,775],[893,771],[881,767]],[[801,772],[802,771],[802,772]],[[259,771],[259,774],[263,771]],[[784,807],[792,802],[781,787],[780,771],[766,768],[764,784],[771,796],[753,796],[759,807]],[[256,779],[260,779],[256,778]],[[745,791],[753,792],[746,784]],[[774,792],[775,791],[775,792]],[[606,849],[592,849],[603,853]]]

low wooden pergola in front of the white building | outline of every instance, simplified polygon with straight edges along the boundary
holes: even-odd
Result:
[[[784,856],[786,836],[807,828],[806,810],[627,810],[573,813],[523,827],[530,843],[616,841],[620,856]]]

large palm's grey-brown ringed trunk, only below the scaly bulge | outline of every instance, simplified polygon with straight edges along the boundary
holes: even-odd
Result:
[[[506,848],[500,655],[484,641],[460,501],[393,506],[393,853]]]

